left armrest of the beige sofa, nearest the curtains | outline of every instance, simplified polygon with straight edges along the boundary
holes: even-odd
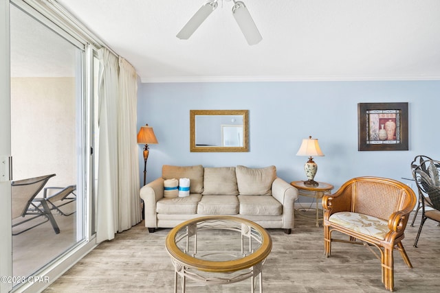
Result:
[[[140,189],[140,198],[144,200],[145,226],[157,228],[156,202],[164,197],[164,179],[157,178]]]

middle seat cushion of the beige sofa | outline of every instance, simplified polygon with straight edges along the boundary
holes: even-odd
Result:
[[[200,215],[236,215],[239,200],[236,196],[202,196],[197,207]]]

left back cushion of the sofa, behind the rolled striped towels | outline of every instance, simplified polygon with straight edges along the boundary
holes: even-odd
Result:
[[[190,179],[190,193],[201,194],[203,192],[203,166],[162,166],[162,178],[172,179],[189,178]]]

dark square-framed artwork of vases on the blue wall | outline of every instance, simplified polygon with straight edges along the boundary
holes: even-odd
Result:
[[[408,150],[408,103],[359,103],[358,150]]]

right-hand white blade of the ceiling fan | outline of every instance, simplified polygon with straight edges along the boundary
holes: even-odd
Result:
[[[236,23],[239,24],[240,30],[248,41],[249,45],[255,45],[263,40],[259,29],[256,27],[252,16],[250,16],[248,8],[242,1],[234,1],[232,6],[232,15],[234,15]]]

